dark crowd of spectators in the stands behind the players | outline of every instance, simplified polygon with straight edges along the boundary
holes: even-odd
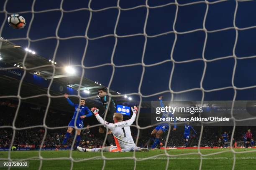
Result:
[[[13,123],[16,128],[25,128],[31,126],[41,126],[41,127],[32,127],[26,128],[22,130],[15,130],[15,138],[13,141],[13,145],[34,145],[36,148],[39,148],[41,142],[46,133],[46,137],[44,140],[43,148],[53,148],[57,147],[61,144],[64,139],[64,134],[67,131],[67,128],[58,128],[58,129],[45,129],[43,127],[43,120],[45,114],[45,108],[39,107],[36,105],[31,105],[27,103],[23,103],[20,105],[18,110],[18,115],[14,121],[15,112],[17,109],[17,102],[12,100],[0,101],[0,126],[13,126]],[[59,115],[61,115],[61,118]],[[68,122],[72,117],[71,112],[60,112],[57,110],[49,110],[46,117],[46,125],[48,127],[57,127],[57,126],[67,126]],[[88,122],[86,122],[88,124]],[[97,123],[90,122],[91,125]],[[86,125],[86,124],[85,124]],[[141,125],[142,127],[143,125]],[[200,137],[201,126],[194,127],[197,131],[197,135],[191,132],[189,139],[189,147],[194,147],[198,145],[198,139]],[[236,131],[234,133],[235,141],[243,141],[243,135],[247,132],[248,128],[251,128],[252,134],[255,134],[256,128],[254,127],[245,127],[245,126],[237,126]],[[97,133],[98,127],[90,128],[90,143],[87,144],[85,141],[81,140],[80,145],[87,148],[101,147],[103,143],[103,139]],[[150,147],[152,143],[148,143],[150,139],[151,131],[154,127],[148,128],[146,130],[141,130],[138,146],[140,147]],[[233,127],[230,126],[204,126],[202,139],[200,146],[205,147],[213,147],[218,146],[219,138],[222,137],[224,131],[229,134],[229,140],[231,138]],[[132,135],[134,140],[136,140],[136,134],[138,133],[136,128],[131,128]],[[13,138],[13,129],[2,128],[0,130],[0,148],[2,147],[10,147],[11,140]],[[176,131],[171,131],[168,138],[168,147],[183,147],[184,146],[184,126],[178,126]],[[161,139],[161,143],[164,145],[166,143],[166,136],[163,135]],[[71,146],[73,138],[70,138],[67,146]]]

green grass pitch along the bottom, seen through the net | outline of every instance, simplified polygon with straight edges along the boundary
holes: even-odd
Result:
[[[256,149],[248,148],[235,150],[238,152],[236,153],[236,170],[256,169]],[[202,170],[232,169],[234,154],[230,149],[201,149],[200,152],[204,154],[204,156],[202,156]],[[198,170],[200,167],[201,159],[197,149],[172,149],[167,150],[167,153],[171,155],[171,157],[169,157],[168,165],[168,169],[170,170]],[[44,160],[42,160],[41,169],[70,170],[70,168],[73,167],[73,170],[100,170],[104,165],[104,160],[102,159],[101,154],[102,153],[80,153],[78,151],[70,152],[69,150],[41,151],[41,157],[44,158]],[[26,160],[29,162],[29,168],[11,169],[38,170],[40,167],[38,151],[12,151],[10,156],[16,161],[31,158],[30,160]],[[105,161],[105,170],[133,170],[135,166],[133,152],[103,153],[103,156],[107,158]],[[137,152],[135,153],[135,157],[137,158],[136,169],[138,170],[163,170],[166,168],[168,161],[164,150]],[[1,161],[3,161],[3,158],[8,158],[8,152],[1,151],[0,158],[2,159]],[[66,160],[61,160],[61,158]],[[111,160],[111,158],[119,159]],[[0,168],[0,170],[4,169],[8,168]]]

